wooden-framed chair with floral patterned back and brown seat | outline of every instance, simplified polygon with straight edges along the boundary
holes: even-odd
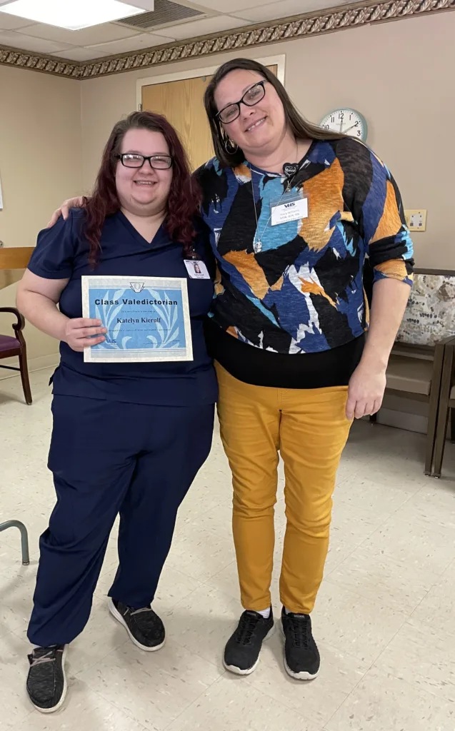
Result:
[[[432,474],[435,456],[445,346],[455,335],[454,304],[455,271],[416,269],[413,293],[387,368],[387,395],[428,404],[427,475]],[[370,420],[374,423],[376,415]]]

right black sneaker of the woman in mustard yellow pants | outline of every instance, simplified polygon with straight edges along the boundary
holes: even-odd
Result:
[[[291,678],[312,681],[320,668],[319,650],[311,630],[309,614],[286,614],[282,610],[282,626],[285,633],[285,668]]]

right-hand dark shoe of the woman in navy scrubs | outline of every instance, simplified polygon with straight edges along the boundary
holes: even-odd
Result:
[[[116,599],[109,599],[109,611],[141,650],[154,652],[165,644],[165,626],[151,607],[133,609]]]

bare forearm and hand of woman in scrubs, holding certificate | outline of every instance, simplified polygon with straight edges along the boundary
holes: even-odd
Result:
[[[44,279],[29,269],[18,285],[16,302],[19,310],[32,325],[70,348],[82,352],[84,348],[102,343],[101,320],[83,317],[70,319],[59,311],[57,303],[68,279]],[[94,337],[96,336],[96,337]]]

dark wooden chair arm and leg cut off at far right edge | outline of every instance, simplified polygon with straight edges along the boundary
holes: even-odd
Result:
[[[439,414],[437,417],[435,443],[434,477],[439,478],[443,469],[447,425],[451,417],[451,441],[455,442],[455,338],[445,345],[443,377],[440,392]]]

